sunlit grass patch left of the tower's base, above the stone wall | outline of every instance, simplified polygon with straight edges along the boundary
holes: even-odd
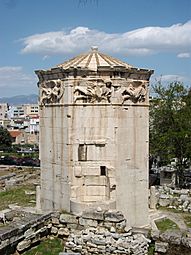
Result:
[[[34,191],[34,185],[18,186],[6,191],[0,192],[0,210],[6,209],[9,204],[16,204],[20,206],[34,206],[35,203],[30,201],[36,200],[35,195],[26,195],[26,191]]]

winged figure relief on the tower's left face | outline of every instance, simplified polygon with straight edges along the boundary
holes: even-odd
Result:
[[[40,104],[58,103],[64,94],[61,80],[46,81],[41,84]]]

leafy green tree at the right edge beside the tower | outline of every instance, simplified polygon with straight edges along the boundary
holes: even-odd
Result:
[[[183,185],[184,169],[191,159],[191,91],[180,82],[153,86],[150,102],[150,154],[161,164],[176,158],[177,184]]]

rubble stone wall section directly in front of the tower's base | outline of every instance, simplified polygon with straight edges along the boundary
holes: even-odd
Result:
[[[60,216],[60,222],[74,224],[65,243],[65,251],[79,254],[140,254],[148,253],[150,240],[143,234],[133,234],[119,211],[85,211],[78,219]],[[67,227],[69,227],[67,224]],[[59,230],[58,230],[59,231]]]

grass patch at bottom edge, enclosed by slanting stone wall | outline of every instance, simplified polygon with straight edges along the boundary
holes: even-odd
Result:
[[[59,238],[46,239],[38,246],[24,252],[23,255],[58,255],[63,249],[63,242]]]

